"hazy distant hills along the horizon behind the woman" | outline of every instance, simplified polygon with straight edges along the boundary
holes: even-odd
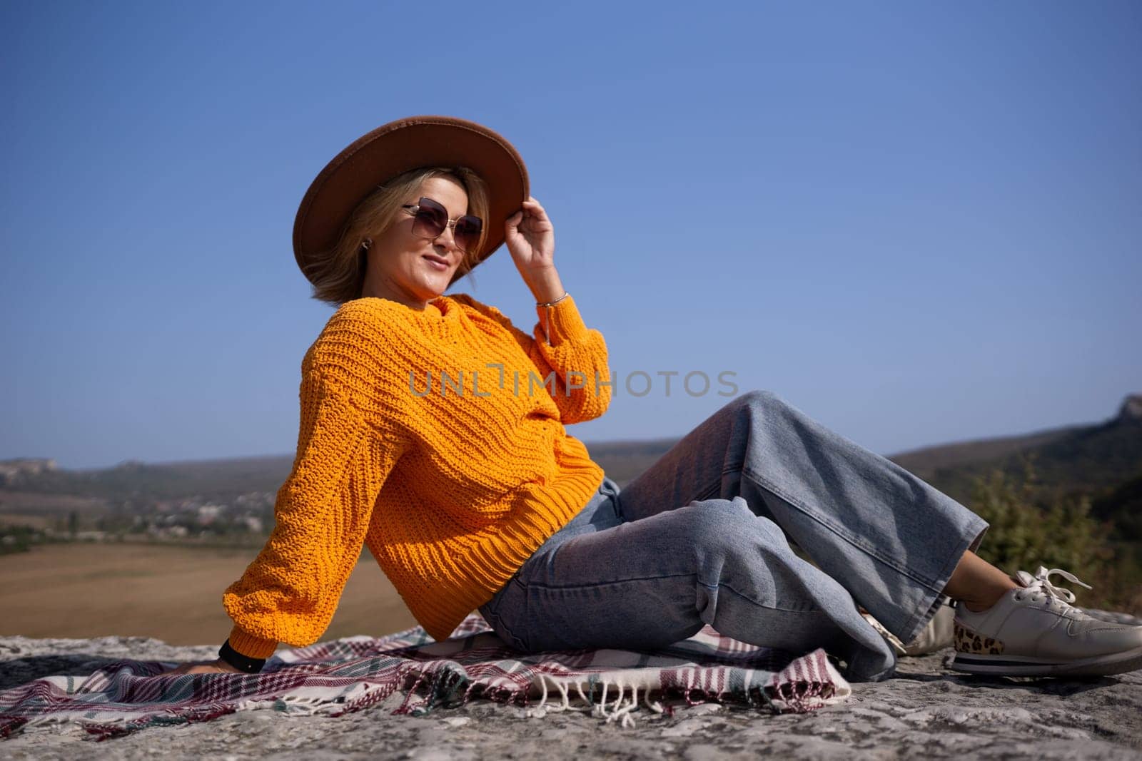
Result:
[[[677,438],[588,443],[592,458],[620,486],[665,454]],[[1111,520],[1123,539],[1142,541],[1142,395],[1123,402],[1104,422],[1067,426],[1022,436],[958,442],[890,455],[954,499],[970,504],[974,478],[992,469],[1021,476],[1022,458],[1035,467],[1047,495],[1087,494],[1095,516]],[[50,460],[0,462],[0,504],[16,493],[72,495],[99,502],[227,500],[250,492],[276,492],[292,455],[168,463],[128,461],[114,468],[65,470]]]

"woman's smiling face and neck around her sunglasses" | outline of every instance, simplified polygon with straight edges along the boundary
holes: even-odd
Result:
[[[447,177],[429,177],[418,192],[409,195],[402,203],[415,204],[421,196],[448,209],[449,219],[468,213],[468,194],[458,183]],[[379,237],[373,238],[368,252],[361,296],[379,297],[413,309],[424,309],[428,301],[448,289],[464,252],[457,248],[451,227],[431,241],[415,235],[409,211],[402,209],[396,221]],[[437,261],[443,261],[443,266]]]

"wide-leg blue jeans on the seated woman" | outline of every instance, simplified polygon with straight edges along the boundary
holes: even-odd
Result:
[[[987,529],[890,460],[750,391],[621,493],[604,477],[480,613],[528,653],[653,649],[710,624],[797,655],[823,647],[850,681],[879,681],[895,654],[858,604],[915,639]]]

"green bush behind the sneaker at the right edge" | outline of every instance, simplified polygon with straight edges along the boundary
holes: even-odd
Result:
[[[974,479],[971,509],[990,524],[978,554],[1013,576],[1018,570],[1034,575],[1039,566],[1061,568],[1093,588],[1052,576],[1053,584],[1075,592],[1075,605],[1136,615],[1142,600],[1135,596],[1140,569],[1134,553],[1116,551],[1110,525],[1091,516],[1087,495],[1045,500],[1034,456],[1022,464],[1022,478],[997,469]]]

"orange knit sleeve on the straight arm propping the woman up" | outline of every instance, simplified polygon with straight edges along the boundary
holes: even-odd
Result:
[[[304,372],[300,400],[297,455],[278,491],[274,529],[223,593],[234,622],[230,645],[251,658],[270,657],[279,641],[306,646],[321,638],[403,450],[320,370]]]

